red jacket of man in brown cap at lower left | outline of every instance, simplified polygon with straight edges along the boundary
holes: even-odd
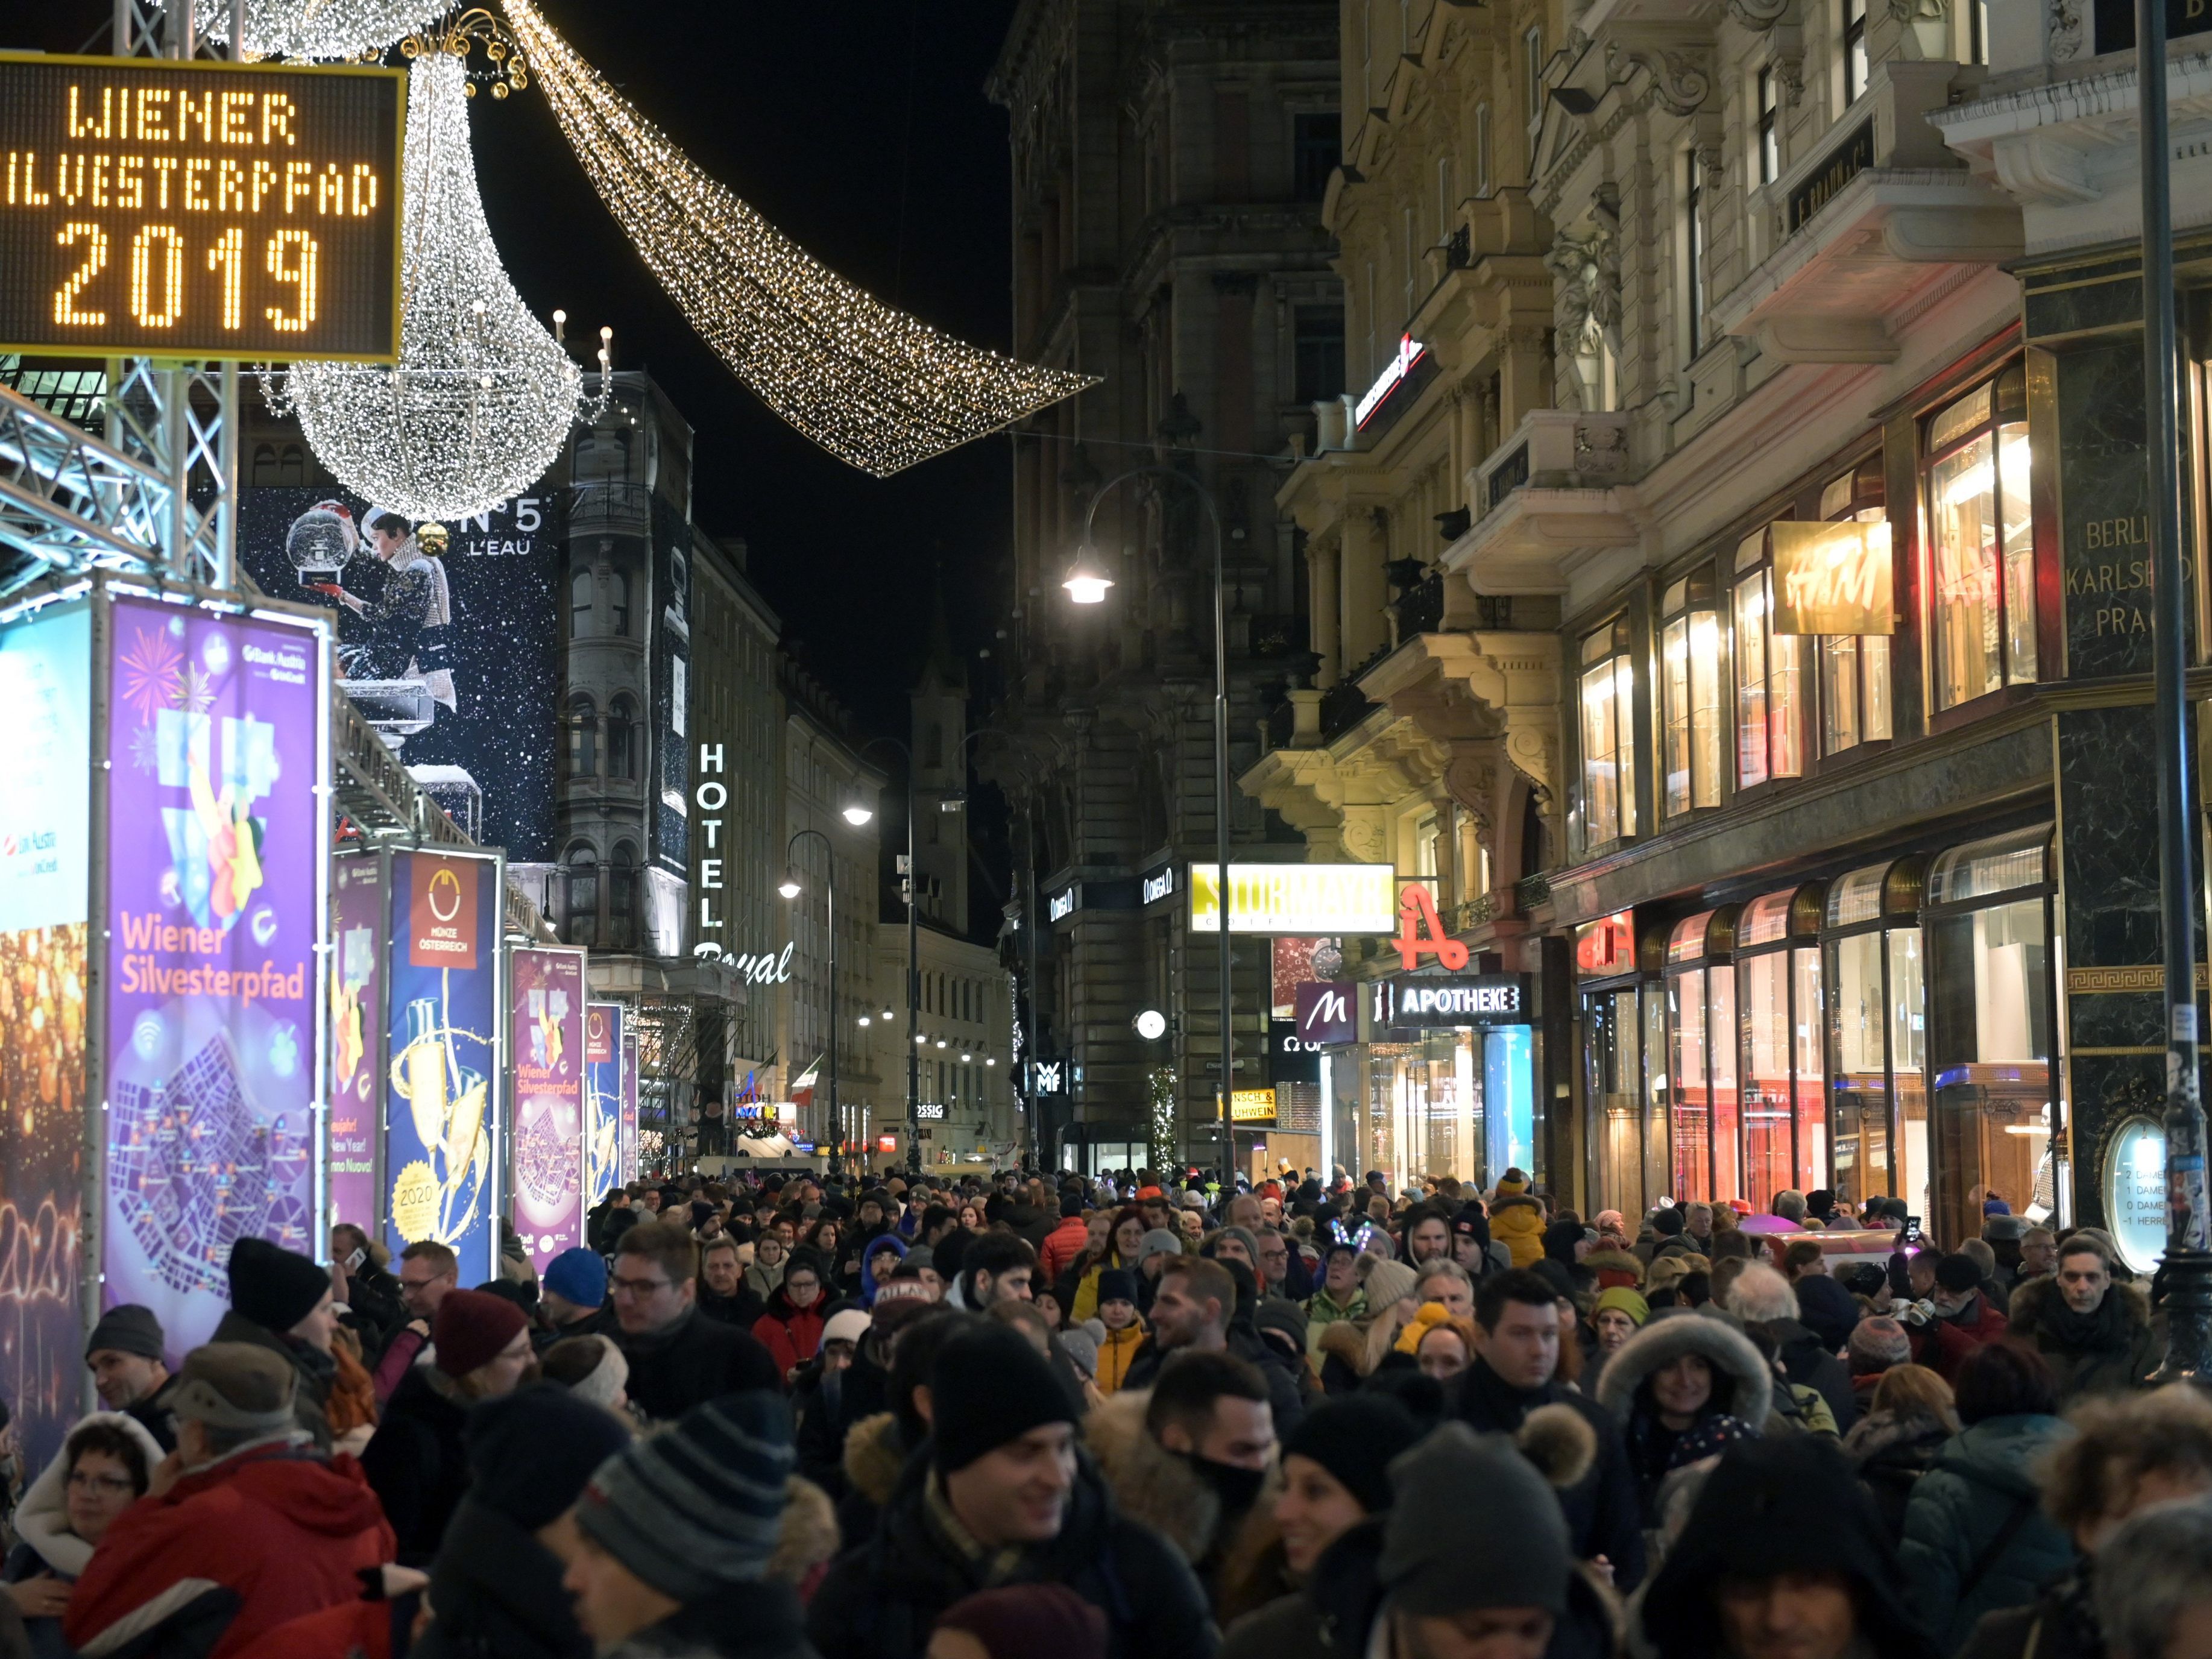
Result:
[[[358,1599],[354,1575],[396,1553],[352,1458],[250,1447],[126,1509],[77,1579],[62,1635],[86,1659],[124,1648],[228,1659],[288,1619]]]

